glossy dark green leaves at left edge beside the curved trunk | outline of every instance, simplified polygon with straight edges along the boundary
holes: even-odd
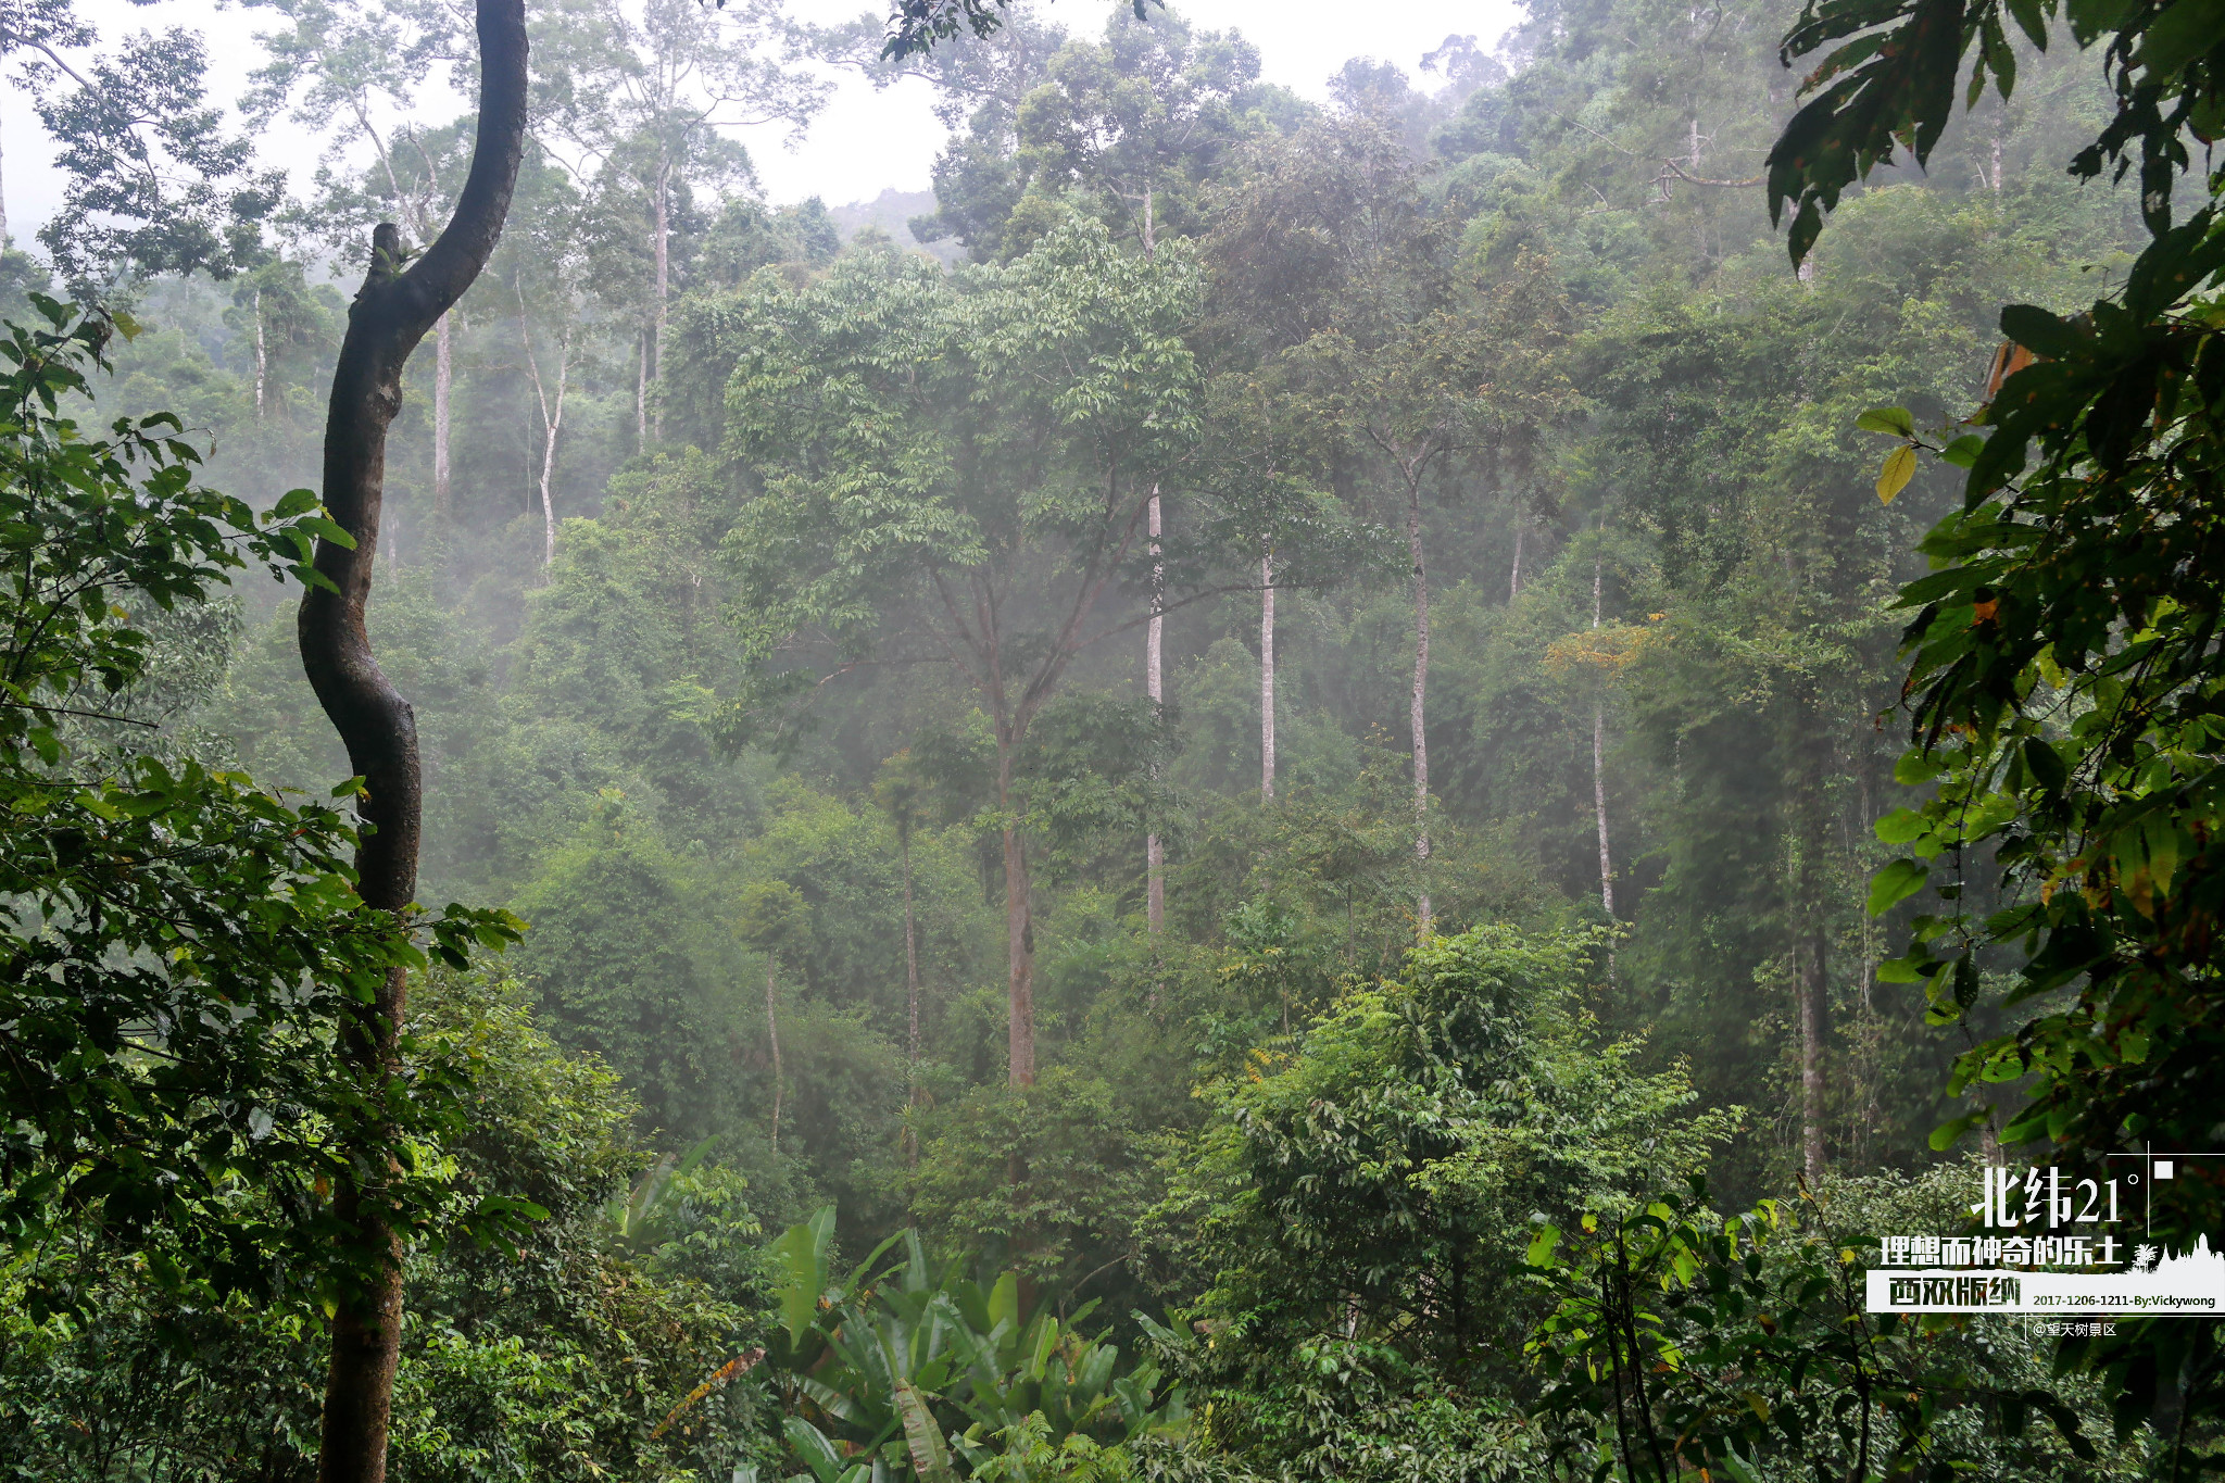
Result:
[[[62,416],[120,320],[40,309],[51,327],[0,338],[0,1232],[47,1256],[145,1245],[171,1287],[343,1281],[352,1232],[325,1203],[343,1129],[394,1129],[358,1156],[403,1230],[447,1203],[427,1141],[463,1067],[363,1081],[334,1038],[352,1001],[427,961],[414,925],[356,898],[336,803],[100,749],[80,725],[145,676],[134,611],[207,600],[247,563],[307,574],[336,531],[307,491],[258,516],[198,487],[171,416],[105,434]],[[454,963],[512,934],[458,907],[429,927]],[[33,1307],[76,1303],[69,1261],[36,1272]]]

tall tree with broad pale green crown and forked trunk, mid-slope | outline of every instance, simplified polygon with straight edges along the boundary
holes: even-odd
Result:
[[[1075,658],[1130,627],[1101,607],[1193,436],[1193,298],[1184,256],[1141,260],[1070,222],[957,280],[854,258],[803,291],[759,289],[728,329],[728,447],[765,489],[728,538],[750,658],[790,687],[803,658],[950,665],[988,711],[1015,1085],[1035,1081],[1015,763]]]

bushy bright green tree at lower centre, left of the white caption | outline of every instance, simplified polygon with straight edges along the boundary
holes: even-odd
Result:
[[[1457,1445],[1522,1445],[1489,1396],[1522,1385],[1531,1214],[1615,1210],[1731,1129],[1687,1112],[1682,1072],[1642,1076],[1635,1043],[1600,1045],[1578,1009],[1595,949],[1442,938],[1208,1083],[1210,1121],[1170,1154],[1146,1232],[1173,1285],[1204,1292],[1190,1316],[1210,1343],[1188,1363],[1215,1445],[1328,1474],[1380,1434],[1373,1405],[1428,1410],[1437,1387],[1482,1403]]]

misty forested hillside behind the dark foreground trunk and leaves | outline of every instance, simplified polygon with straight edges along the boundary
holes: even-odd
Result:
[[[267,118],[407,91],[283,16]],[[1865,909],[1927,783],[1896,598],[1960,494],[1885,491],[1856,420],[1971,414],[2000,305],[2123,280],[2132,187],[2063,173],[2089,56],[2018,42],[1793,269],[1789,4],[1537,0],[1328,104],[1179,9],[788,33],[939,89],[937,258],[768,205],[656,91],[810,116],[705,16],[532,13],[510,225],[392,440],[418,894],[525,923],[418,1014],[478,1078],[449,1174],[541,1210],[427,1227],[396,1476],[1560,1476],[1609,1423],[1540,1405],[1540,1221],[1693,1176],[1847,1238],[1960,1218],[1927,1138],[2016,965],[1927,1025],[1880,965],[1936,903]],[[100,416],[176,411],[258,507],[316,482],[356,238],[425,240],[467,142],[412,125],[245,271],[122,280]],[[58,291],[4,269],[11,318]],[[147,627],[162,747],[347,776],[287,589]],[[76,1316],[7,1321],[9,1465],[303,1476],[314,1316],[87,1252]],[[2031,1338],[1907,1363],[2045,1379]],[[2143,1476],[1976,1416],[1927,1456]]]

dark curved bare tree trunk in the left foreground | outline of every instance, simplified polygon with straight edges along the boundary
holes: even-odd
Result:
[[[487,265],[510,213],[525,147],[525,0],[478,0],[478,140],[456,216],[403,271],[400,229],[372,233],[372,271],[347,313],[325,420],[325,509],[354,547],[316,545],[332,589],[300,600],[300,663],[365,780],[356,852],[363,903],[403,914],[416,896],[421,774],[416,718],[372,656],[363,607],[372,596],[385,498],[387,427],[400,409],[409,351]],[[343,1054],[369,1081],[400,1072],[407,976],[394,969],[374,1003],[343,1025]],[[374,1127],[372,1149],[383,1147]],[[385,1214],[385,1154],[356,1149],[334,1187],[334,1214],[356,1232],[360,1267],[338,1292],[325,1381],[320,1483],[383,1483],[394,1361],[400,1347],[403,1252]]]

